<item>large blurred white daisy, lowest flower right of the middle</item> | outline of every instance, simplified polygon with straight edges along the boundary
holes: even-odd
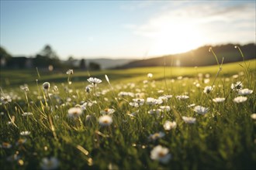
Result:
[[[171,159],[171,154],[169,154],[168,148],[157,145],[150,151],[150,158],[161,163],[167,163]]]

